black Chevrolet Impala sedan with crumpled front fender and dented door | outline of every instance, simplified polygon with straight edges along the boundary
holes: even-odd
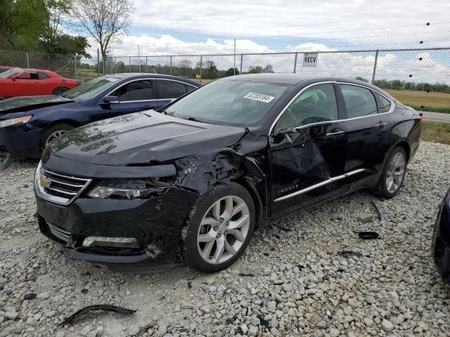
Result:
[[[420,122],[353,79],[220,79],[58,138],[34,180],[39,227],[68,258],[216,272],[287,213],[363,188],[394,197]]]

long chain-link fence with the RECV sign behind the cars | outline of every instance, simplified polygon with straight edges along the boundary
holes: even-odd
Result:
[[[104,60],[0,51],[0,64],[43,68],[85,81],[122,72],[172,74],[200,83],[259,72],[349,77],[371,82],[417,110],[450,113],[450,48],[113,56]]]

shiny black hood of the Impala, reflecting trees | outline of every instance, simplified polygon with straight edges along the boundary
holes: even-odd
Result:
[[[76,128],[51,146],[58,157],[111,166],[156,164],[228,147],[245,128],[206,124],[150,110]]]

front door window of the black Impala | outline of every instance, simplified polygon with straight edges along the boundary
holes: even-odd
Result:
[[[318,84],[301,93],[281,115],[276,125],[277,128],[295,128],[336,119],[338,105],[333,84]]]

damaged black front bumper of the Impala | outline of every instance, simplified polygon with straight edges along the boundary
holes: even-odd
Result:
[[[151,199],[80,196],[68,206],[36,198],[39,229],[63,244],[66,258],[159,269],[181,262],[181,227],[198,194],[169,187]],[[134,238],[139,247],[83,246],[86,237]]]

